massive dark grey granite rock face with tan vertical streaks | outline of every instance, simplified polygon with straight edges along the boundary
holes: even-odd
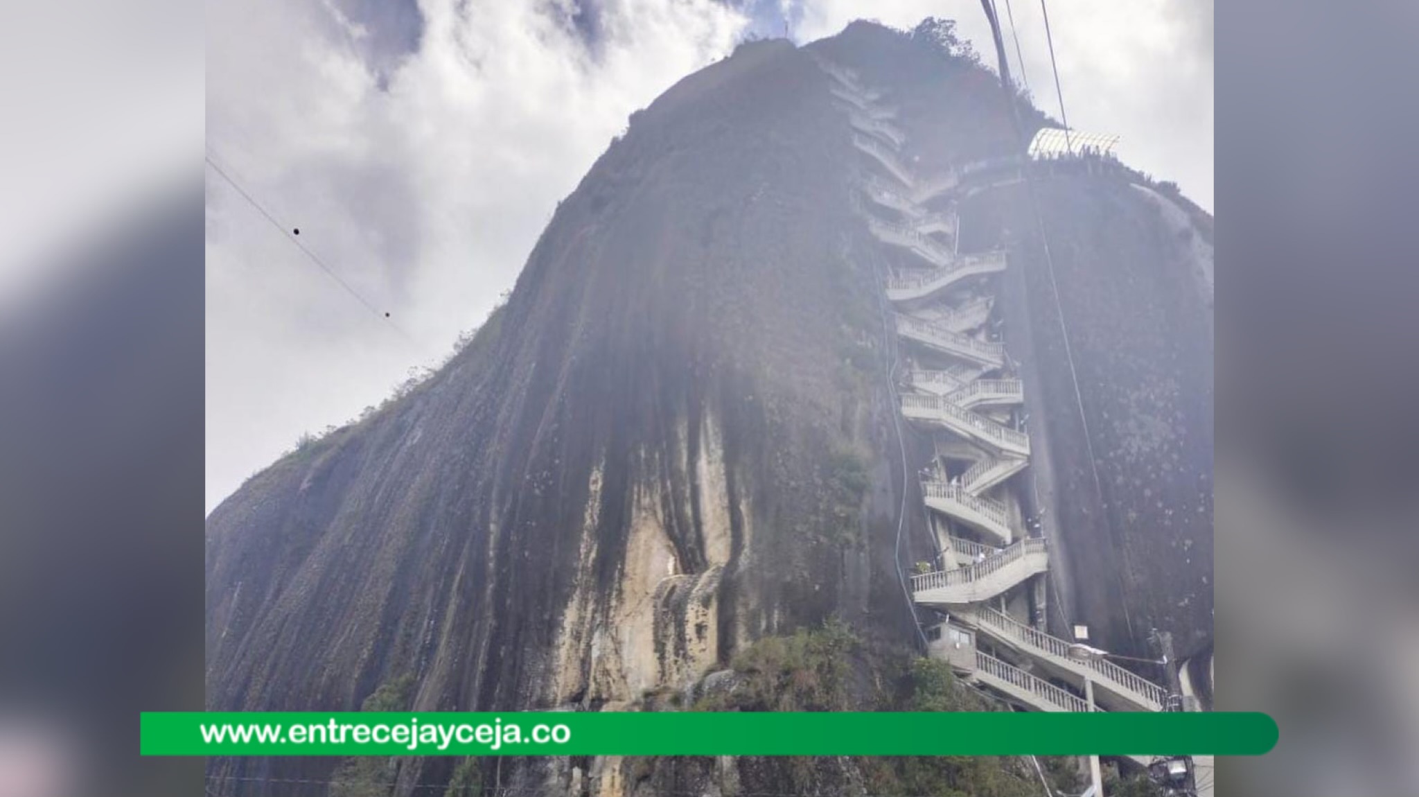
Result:
[[[894,421],[881,278],[900,255],[854,211],[870,165],[824,58],[891,94],[922,169],[1015,150],[989,72],[874,24],[746,44],[678,82],[558,207],[457,357],[211,513],[209,708],[352,710],[400,675],[417,710],[643,708],[830,617],[912,644],[897,557],[929,557],[904,479],[929,445]],[[1023,196],[971,200],[964,228],[1007,240],[1030,218]],[[1053,281],[1022,245],[1002,306],[1039,407],[1032,435],[1049,437],[1033,468],[1069,549],[1059,600],[1120,652],[1147,652],[1151,625],[1186,652],[1212,628],[1196,247],[1117,176],[1053,180],[1037,201]],[[763,762],[685,762],[673,777],[573,763],[499,777],[549,794],[766,786]],[[241,793],[240,777],[332,766],[211,770]],[[834,766],[849,788],[850,764]],[[396,791],[429,793],[416,787],[450,770],[407,763]]]

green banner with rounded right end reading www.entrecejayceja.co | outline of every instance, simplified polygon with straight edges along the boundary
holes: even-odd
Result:
[[[145,756],[1259,756],[1254,712],[143,713]]]

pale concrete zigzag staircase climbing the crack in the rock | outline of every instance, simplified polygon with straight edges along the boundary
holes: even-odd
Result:
[[[964,678],[1029,710],[1161,710],[1166,701],[1162,686],[1103,658],[1070,658],[1067,641],[986,606],[1019,596],[1022,586],[1046,573],[1049,549],[1044,539],[1020,539],[1007,503],[986,496],[1012,489],[1009,479],[1029,465],[1029,435],[992,417],[999,417],[1000,408],[1023,404],[1025,386],[1017,379],[982,379],[1007,360],[1002,343],[972,332],[992,313],[985,278],[1009,264],[1005,251],[958,251],[959,216],[954,203],[1022,182],[1026,170],[1069,174],[1078,167],[1006,156],[920,174],[898,153],[907,136],[885,122],[895,111],[878,104],[880,92],[863,87],[849,69],[824,69],[834,77],[833,95],[846,104],[853,146],[880,167],[861,184],[871,204],[854,196],[854,207],[864,214],[873,238],[927,267],[894,274],[884,285],[891,302],[910,308],[910,315],[895,313],[897,335],[912,346],[912,360],[921,357],[900,372],[911,390],[901,394],[901,413],[931,431],[937,458],[966,459],[971,465],[951,482],[922,481],[922,501],[931,512],[959,523],[952,530],[969,529],[996,543],[952,533],[942,540],[942,569],[912,576],[912,601],[948,613],[951,620],[944,625],[954,628],[949,642],[941,634],[935,637],[938,641],[928,645],[931,655],[945,658]],[[952,206],[925,207],[935,200],[951,200]],[[883,208],[893,220],[876,216]],[[976,281],[971,282],[972,298],[942,301],[958,295],[969,279]],[[1029,661],[1030,671],[976,648],[978,638],[989,640],[993,652],[1012,661]],[[1095,705],[1047,678],[1093,693]],[[1130,757],[1144,766],[1151,760]]]

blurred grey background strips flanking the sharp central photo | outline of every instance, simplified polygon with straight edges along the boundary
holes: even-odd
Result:
[[[1216,13],[1216,699],[1281,728],[1218,793],[1419,794],[1419,9]],[[0,796],[203,794],[136,754],[203,703],[203,41],[0,11]]]

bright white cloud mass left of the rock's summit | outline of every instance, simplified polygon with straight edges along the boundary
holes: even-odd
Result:
[[[209,3],[209,143],[407,340],[209,172],[207,506],[307,430],[383,398],[509,288],[552,208],[627,116],[727,54],[707,0],[420,4],[379,89],[325,3]]]

